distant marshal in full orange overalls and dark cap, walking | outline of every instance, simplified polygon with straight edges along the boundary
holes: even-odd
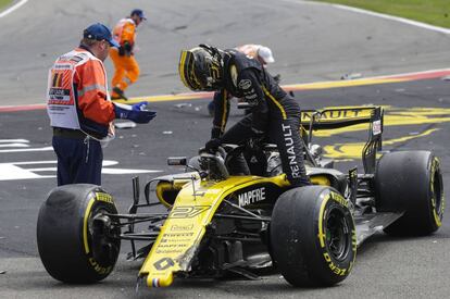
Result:
[[[122,18],[113,29],[113,38],[118,43],[110,50],[110,57],[114,64],[112,78],[111,99],[128,100],[125,89],[139,78],[139,64],[134,54],[136,45],[136,28],[147,20],[142,10],[132,11],[128,17]]]

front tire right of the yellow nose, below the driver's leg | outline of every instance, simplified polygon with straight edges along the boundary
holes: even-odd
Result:
[[[326,186],[295,188],[275,203],[272,256],[292,286],[332,286],[351,272],[357,235],[348,201]]]

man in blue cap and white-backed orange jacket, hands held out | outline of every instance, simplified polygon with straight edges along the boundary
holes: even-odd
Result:
[[[117,46],[110,29],[97,23],[83,33],[79,47],[59,57],[49,71],[47,112],[58,157],[58,186],[101,185],[102,144],[112,139],[114,119],[148,123],[155,112],[147,102],[113,103],[103,61]]]

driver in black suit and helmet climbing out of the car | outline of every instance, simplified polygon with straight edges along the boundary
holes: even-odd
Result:
[[[283,171],[291,186],[310,185],[300,137],[300,107],[261,63],[235,49],[222,51],[200,45],[182,51],[178,71],[182,82],[191,90],[215,91],[217,109],[207,150],[214,151],[221,144],[242,144],[264,137],[277,145]],[[251,113],[225,132],[229,94],[245,98]]]

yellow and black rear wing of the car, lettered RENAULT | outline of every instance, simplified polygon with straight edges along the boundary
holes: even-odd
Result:
[[[313,132],[318,129],[335,129],[358,124],[370,124],[368,139],[362,151],[364,172],[375,172],[376,153],[382,150],[383,135],[382,107],[346,107],[324,110],[303,110],[301,126],[308,130],[307,145],[311,144]]]

